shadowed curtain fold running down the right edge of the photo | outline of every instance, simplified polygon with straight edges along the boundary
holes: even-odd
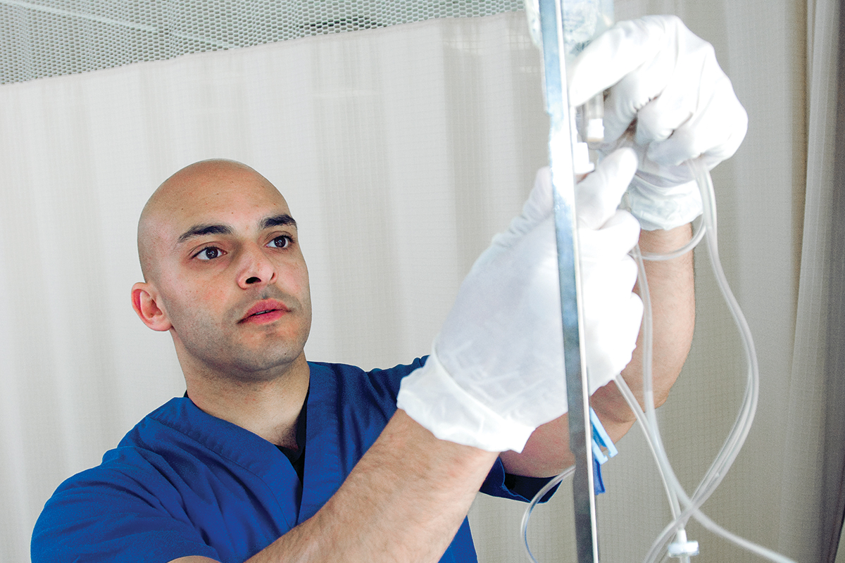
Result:
[[[837,190],[837,37],[836,2],[808,3],[808,149],[799,309],[792,373],[788,387],[788,434],[782,479],[779,546],[802,560],[832,561],[839,528],[831,508],[841,502],[842,387],[831,377],[842,369],[841,187]],[[842,133],[838,133],[842,134]],[[841,329],[840,329],[841,330]],[[838,391],[838,392],[837,392]],[[831,430],[835,430],[832,431]],[[831,458],[835,456],[837,459]],[[826,466],[837,466],[835,474]],[[838,482],[833,482],[838,479]],[[841,509],[840,509],[841,510]],[[841,512],[839,516],[841,527]]]

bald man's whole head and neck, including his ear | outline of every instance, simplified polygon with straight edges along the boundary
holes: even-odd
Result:
[[[188,396],[296,449],[311,296],[297,224],[278,190],[235,162],[188,166],[144,207],[138,248],[145,281],[132,304],[148,327],[170,331]]]

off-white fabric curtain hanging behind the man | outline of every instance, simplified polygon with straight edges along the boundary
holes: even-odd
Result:
[[[824,212],[837,8],[616,2],[618,19],[679,14],[714,44],[749,111],[748,137],[714,181],[723,261],[760,355],[760,409],[705,510],[807,561],[835,549],[820,517],[832,493],[820,483],[831,478],[822,445],[835,441],[825,436]],[[547,127],[523,14],[0,86],[0,560],[26,560],[52,490],[184,391],[169,338],[144,328],[128,299],[140,279],[138,214],[173,171],[223,156],[273,181],[300,225],[311,274],[308,358],[395,365],[427,353],[472,261],[519,211],[546,160]],[[661,409],[690,489],[743,391],[736,333],[706,260],[697,276],[695,343]],[[619,449],[599,497],[607,561],[641,558],[668,520],[636,430]],[[542,561],[574,560],[568,487],[532,522]],[[471,520],[482,561],[520,560],[521,509],[478,498]],[[690,537],[702,563],[756,560],[695,524]]]

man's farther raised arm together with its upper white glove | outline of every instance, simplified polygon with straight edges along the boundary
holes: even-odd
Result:
[[[682,246],[690,238],[689,222],[701,213],[698,187],[685,161],[696,159],[711,169],[736,152],[748,127],[748,115],[712,46],[674,16],[619,22],[567,65],[567,79],[572,106],[609,88],[603,119],[606,145],[632,143],[639,149],[628,198],[631,214],[646,229],[641,249],[669,252]],[[659,405],[690,349],[695,323],[692,257],[646,263],[646,273]],[[638,348],[623,371],[640,400],[641,360]],[[614,441],[635,422],[614,383],[600,387],[591,405]],[[538,427],[522,454],[504,452],[502,460],[515,474],[556,474],[573,463],[568,441],[564,416]]]

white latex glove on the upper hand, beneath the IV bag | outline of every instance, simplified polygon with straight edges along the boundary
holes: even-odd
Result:
[[[646,16],[599,35],[567,68],[567,79],[573,106],[613,86],[605,149],[633,145],[641,156],[629,189],[641,227],[668,230],[701,214],[684,160],[701,157],[710,170],[736,152],[748,129],[713,47],[675,16]]]

